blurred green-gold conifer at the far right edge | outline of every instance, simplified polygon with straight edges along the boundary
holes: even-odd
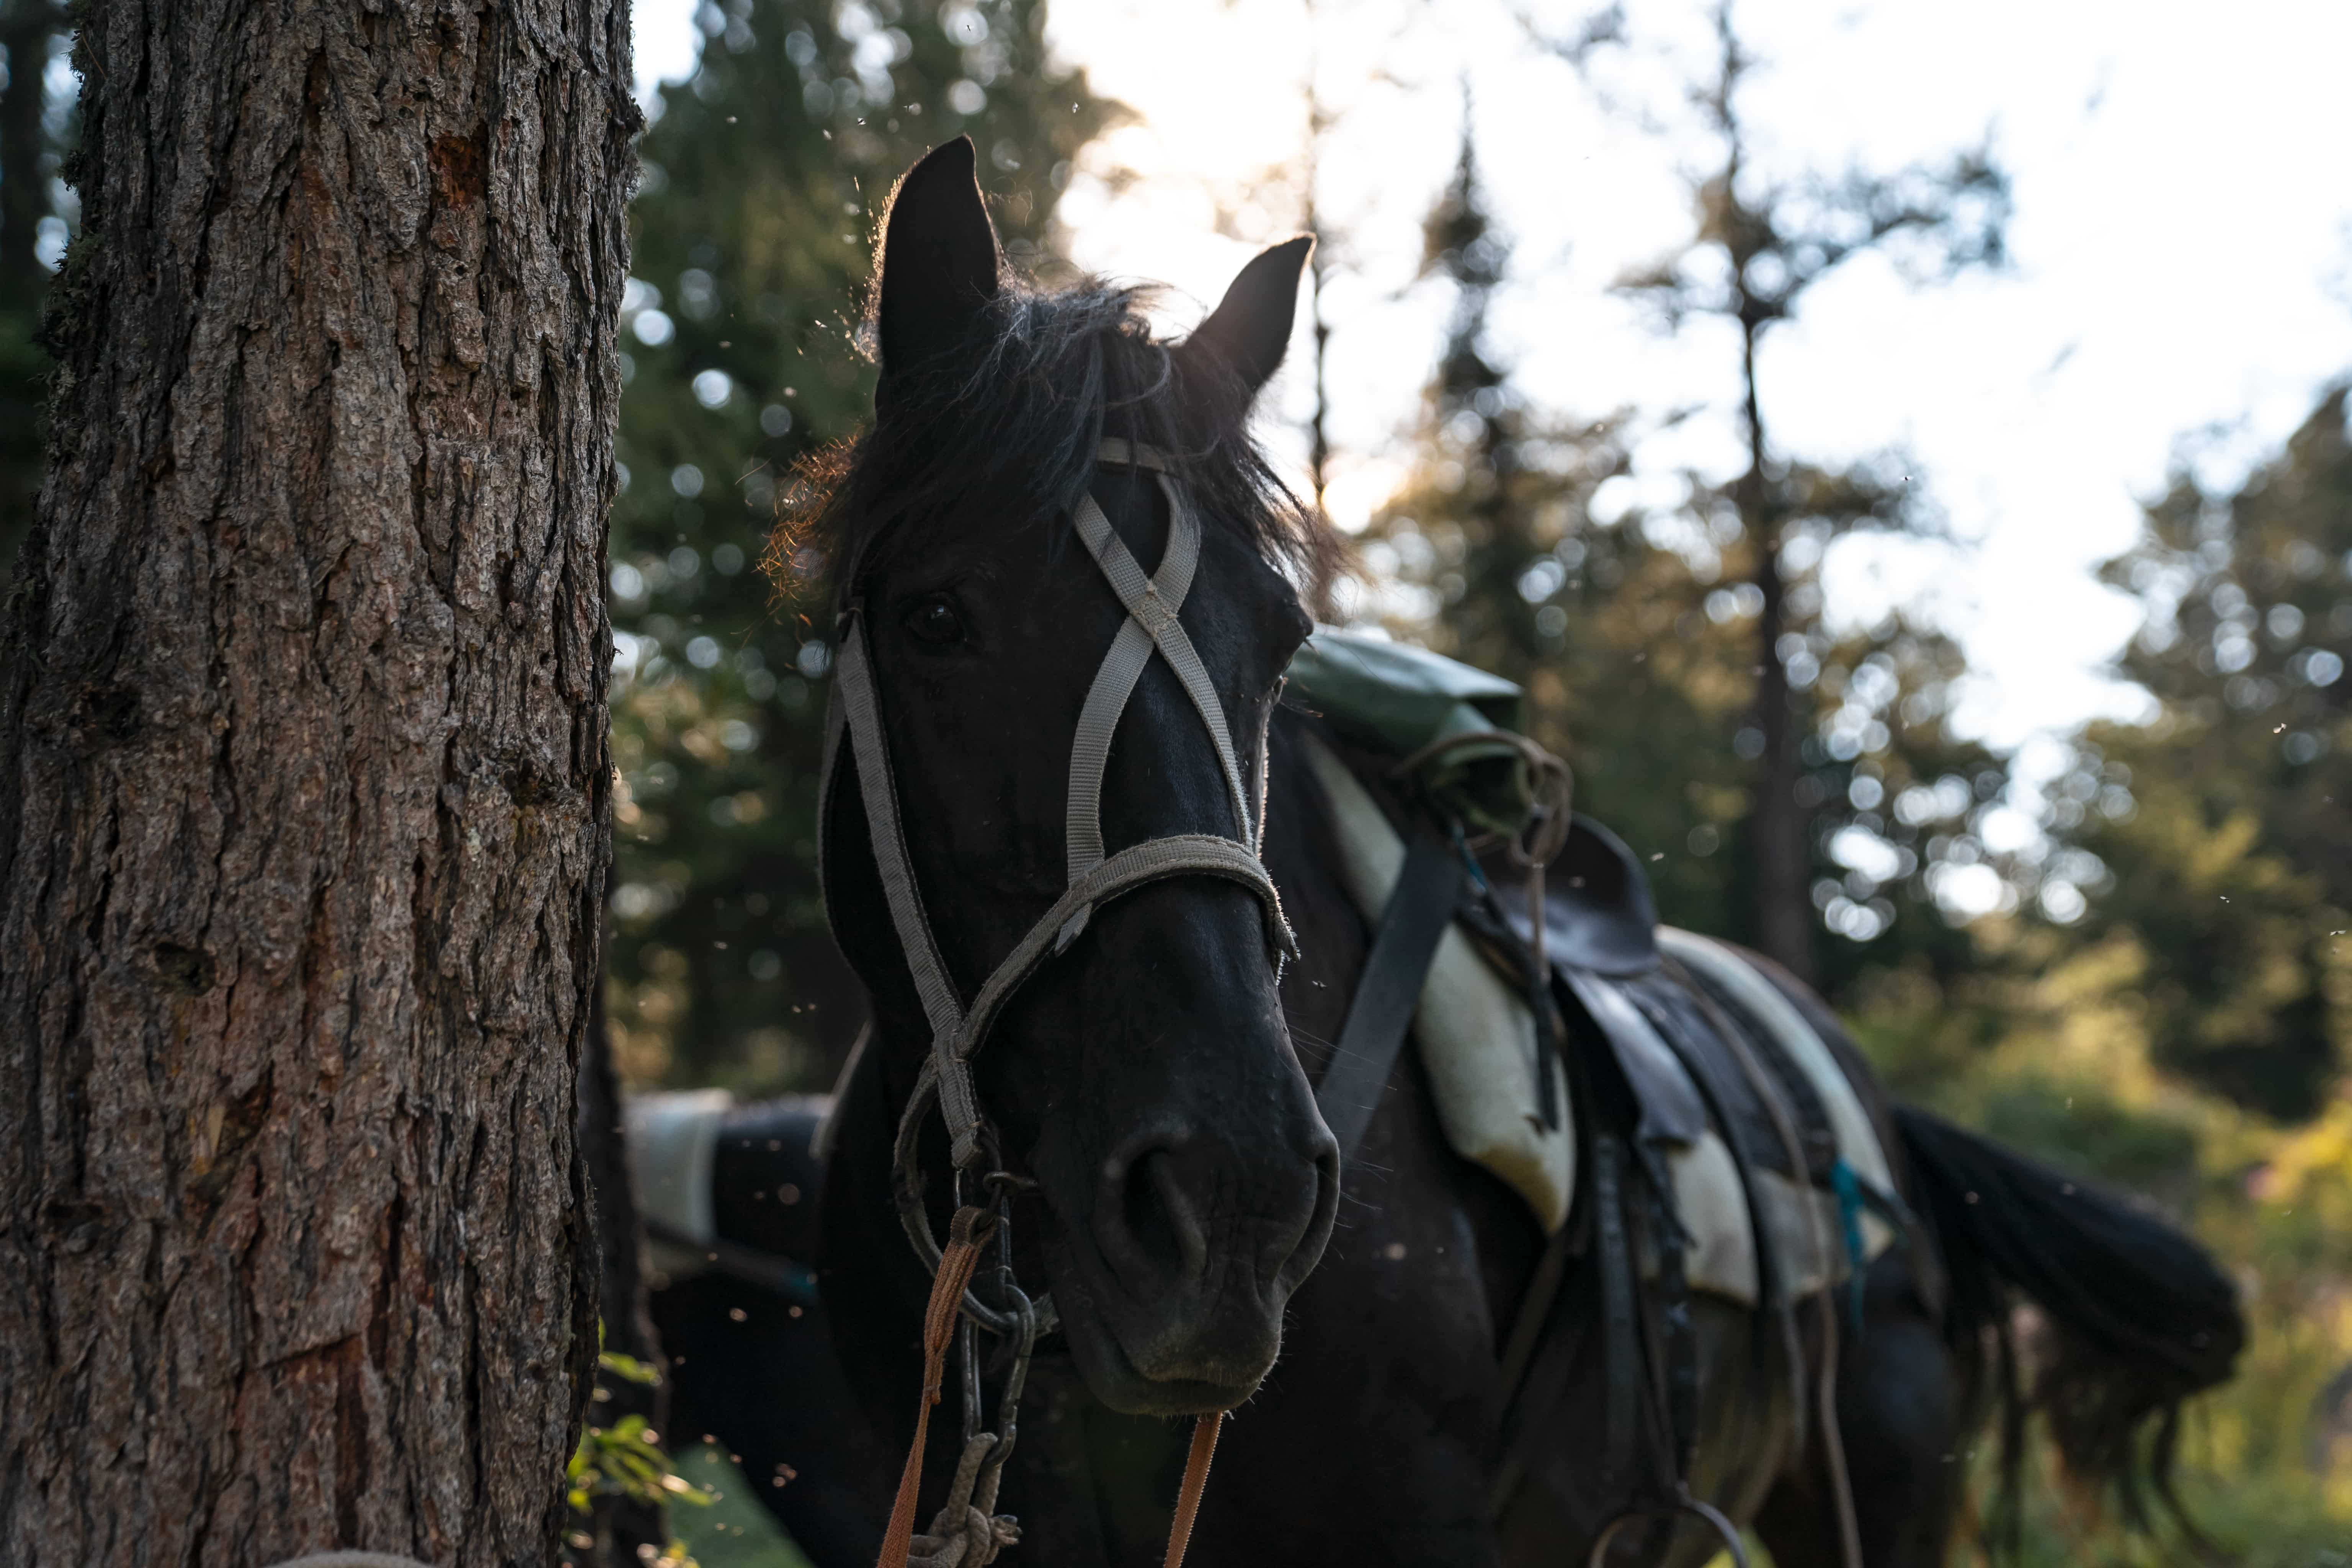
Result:
[[[2274,1117],[2312,1114],[2352,1044],[2345,411],[2328,393],[2234,494],[2183,470],[2105,564],[2145,611],[2117,672],[2157,715],[2091,726],[2051,804],[2110,884],[2084,940],[2143,954],[2157,1063]]]

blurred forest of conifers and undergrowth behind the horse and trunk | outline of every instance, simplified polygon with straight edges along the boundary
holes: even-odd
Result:
[[[1915,287],[2006,263],[1994,143],[1879,169],[1743,162],[1757,73],[1738,16],[1646,49],[1613,12],[1503,16],[1562,89],[1639,129],[1682,115],[1705,155],[1672,193],[1686,235],[1616,280],[1661,341],[1715,331],[1755,393],[1755,346],[1856,256]],[[1338,0],[1305,38],[1390,26]],[[1369,12],[1367,12],[1369,16]],[[40,339],[73,226],[66,14],[0,7],[0,550],[40,484]],[[889,181],[971,134],[1016,266],[1068,270],[1073,181],[1134,181],[1105,134],[1134,113],[1047,47],[1037,0],[724,0],[642,139],[612,534],[621,766],[607,1013],[637,1086],[826,1088],[858,994],[823,926],[814,764],[830,649],[793,562],[762,574],[793,463],[863,416],[856,310]],[[1712,28],[1712,31],[1710,31]],[[1390,71],[1374,63],[1367,75]],[[1315,59],[1312,54],[1308,56]],[[1661,61],[1672,92],[1639,99]],[[2063,733],[1992,745],[1966,719],[1964,642],[1933,604],[1853,597],[1839,552],[1962,557],[1971,541],[1905,454],[1806,461],[1748,397],[1743,451],[1639,487],[1637,447],[1691,416],[1562,411],[1529,369],[1562,353],[1498,327],[1548,266],[1496,219],[1496,160],[1456,94],[1451,174],[1397,294],[1444,320],[1418,411],[1383,442],[1357,529],[1352,618],[1529,689],[1578,806],[1651,867],[1668,919],[1811,973],[1898,1093],[2194,1222],[2256,1314],[2244,1378],[2185,1434],[2187,1497],[2249,1563],[2352,1561],[2352,437],[2324,390],[2225,482],[2183,447],[2140,538],[2098,576],[2133,614],[2112,679],[2133,696]],[[1327,353],[1348,289],[1345,214],[1319,200],[1350,101],[1312,68],[1296,146],[1209,193],[1237,237],[1317,233],[1277,433],[1301,489],[1350,473]],[[1663,108],[1661,108],[1663,106]],[[1181,306],[1171,306],[1183,320]],[[1748,350],[1740,360],[1740,350]],[[2345,367],[2352,371],[2352,364]],[[1738,409],[1733,409],[1738,414]],[[1296,418],[1289,418],[1296,416]],[[1790,423],[1820,428],[1835,407]],[[2192,433],[2183,433],[2192,435]],[[1618,484],[1613,484],[1618,482]],[[1334,505],[1338,512],[1341,508]],[[736,1523],[748,1523],[739,1516]],[[781,1544],[680,1521],[703,1561]],[[2084,1500],[2034,1490],[2030,1561],[2138,1561]]]

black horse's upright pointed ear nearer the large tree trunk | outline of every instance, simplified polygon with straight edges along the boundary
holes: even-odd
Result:
[[[971,136],[957,136],[924,153],[891,193],[875,310],[884,376],[955,348],[997,296],[997,230],[971,162]]]

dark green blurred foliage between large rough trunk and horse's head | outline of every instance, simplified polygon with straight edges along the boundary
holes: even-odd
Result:
[[[642,141],[614,503],[609,1004],[623,1077],[823,1084],[861,999],[816,886],[821,562],[760,559],[793,465],[863,418],[891,181],[969,134],[1016,266],[1117,113],[1044,63],[1037,0],[731,0]]]

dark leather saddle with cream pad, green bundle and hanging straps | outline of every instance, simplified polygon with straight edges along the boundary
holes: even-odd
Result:
[[[1291,670],[1294,705],[1322,719],[1305,752],[1343,879],[1374,926],[1317,1086],[1324,1121],[1350,1159],[1411,1032],[1449,1145],[1510,1185],[1550,1237],[1501,1347],[1496,1514],[1597,1349],[1604,1483],[1630,1497],[1602,1542],[1670,1514],[1729,1530],[1686,1488],[1698,1425],[1689,1293],[1778,1321],[1802,1446],[1811,1399],[1797,1387],[1797,1305],[1846,1281],[1846,1312],[1860,1314],[1860,1274],[1907,1220],[1886,1152],[1783,983],[1733,947],[1661,926],[1639,858],[1590,818],[1569,823],[1541,872],[1538,936],[1536,872],[1510,853],[1529,820],[1531,790],[1512,773],[1526,752],[1479,757],[1482,726],[1515,724],[1517,689],[1435,670],[1451,661],[1418,649],[1348,646],[1362,642],[1319,630],[1315,658]],[[1383,696],[1371,689],[1381,672],[1423,691]],[[1461,701],[1449,708],[1449,696]],[[1475,769],[1416,776],[1421,759],[1465,752]],[[1494,849],[1472,853],[1468,825],[1486,825]],[[1597,1314],[1590,1293],[1562,1293],[1569,1255],[1595,1265]]]

